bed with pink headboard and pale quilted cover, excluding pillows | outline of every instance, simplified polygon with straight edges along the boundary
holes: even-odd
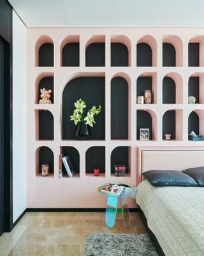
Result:
[[[143,180],[148,170],[184,170],[204,166],[204,149],[138,148],[136,203],[161,246],[159,255],[204,255],[204,188],[155,187]]]

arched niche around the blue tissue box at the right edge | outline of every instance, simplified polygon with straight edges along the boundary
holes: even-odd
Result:
[[[195,109],[189,114],[188,119],[188,133],[194,131],[196,135],[204,136],[204,111],[202,109]]]

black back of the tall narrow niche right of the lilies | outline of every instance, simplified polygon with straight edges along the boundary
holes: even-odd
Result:
[[[111,139],[128,140],[128,82],[123,77],[111,81]]]

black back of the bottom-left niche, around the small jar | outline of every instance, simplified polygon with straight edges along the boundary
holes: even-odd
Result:
[[[42,173],[41,166],[42,164],[48,164],[49,173],[54,173],[54,154],[52,150],[48,147],[41,147],[39,150],[39,173]]]

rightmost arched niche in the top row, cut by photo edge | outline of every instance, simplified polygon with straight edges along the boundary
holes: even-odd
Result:
[[[188,45],[188,63],[189,67],[203,67],[204,60],[204,36],[193,36]]]

